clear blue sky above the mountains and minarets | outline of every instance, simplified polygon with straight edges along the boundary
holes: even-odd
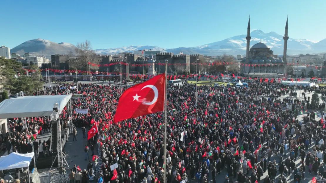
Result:
[[[0,45],[13,48],[31,39],[94,49],[150,45],[200,46],[251,29],[320,41],[326,38],[324,0],[5,0]],[[6,15],[8,18],[4,18]]]

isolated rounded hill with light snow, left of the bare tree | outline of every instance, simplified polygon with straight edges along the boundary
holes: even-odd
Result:
[[[67,54],[69,50],[73,51],[75,48],[76,46],[70,43],[54,43],[45,39],[32,39],[12,48],[10,52],[50,57],[54,54]]]

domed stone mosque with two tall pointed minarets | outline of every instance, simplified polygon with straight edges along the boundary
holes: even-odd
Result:
[[[288,19],[286,20],[285,25],[285,35],[284,39],[284,50],[283,50],[283,60],[275,59],[273,50],[267,47],[264,43],[256,43],[249,49],[250,45],[250,18],[248,21],[247,28],[247,47],[246,47],[246,57],[241,61],[240,72],[244,73],[248,76],[255,75],[259,77],[259,75],[278,75],[285,74],[286,72],[286,54],[287,54],[287,46],[288,46]],[[278,74],[277,74],[278,73]],[[277,77],[277,76],[275,76]]]

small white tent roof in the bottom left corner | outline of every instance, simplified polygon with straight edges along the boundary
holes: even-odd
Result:
[[[0,171],[14,169],[14,168],[28,167],[33,157],[34,157],[34,152],[26,153],[26,154],[19,154],[16,152],[12,152],[7,156],[1,156]]]

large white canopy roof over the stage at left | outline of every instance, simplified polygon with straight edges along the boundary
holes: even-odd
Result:
[[[0,119],[50,116],[55,103],[61,113],[70,98],[71,95],[43,95],[6,99],[0,103]]]

